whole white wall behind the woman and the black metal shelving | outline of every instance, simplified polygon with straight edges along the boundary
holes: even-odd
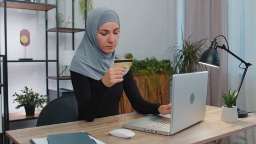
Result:
[[[52,0],[53,1],[53,0]],[[53,3],[55,1],[48,1]],[[66,4],[59,1],[59,13],[65,15],[65,20],[71,15],[71,2]],[[176,1],[175,0],[94,0],[94,8],[108,7],[115,10],[121,23],[120,40],[117,53],[123,55],[131,52],[137,59],[155,56],[162,59],[168,47],[176,43]],[[75,25],[84,28],[84,21],[78,11],[78,0],[75,0]],[[19,41],[21,29],[28,29],[31,34],[31,44],[27,46],[27,57],[33,59],[45,58],[45,22],[43,11],[33,10],[7,10],[8,21],[8,59],[22,58],[23,50]],[[55,9],[48,14],[48,27],[55,26]],[[1,31],[1,54],[4,53],[3,32],[3,8],[1,8],[0,19]],[[84,32],[75,34],[75,49],[77,49]],[[59,34],[60,49],[69,50],[71,45],[71,34]],[[56,58],[56,36],[48,33],[49,59]],[[55,69],[51,63],[49,68]],[[49,75],[55,75],[55,70],[50,70]],[[45,65],[44,63],[9,63],[8,64],[8,90],[9,90],[9,112],[24,111],[23,108],[16,110],[13,104],[13,95],[24,86],[33,88],[34,91],[46,94]],[[56,89],[56,82],[50,80],[49,88]],[[60,87],[71,87],[71,82],[61,81]]]

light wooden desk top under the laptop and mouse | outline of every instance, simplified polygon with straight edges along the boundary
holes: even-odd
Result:
[[[143,116],[145,115],[133,112],[124,115],[96,118],[94,122],[77,121],[10,130],[6,131],[6,135],[17,144],[30,143],[29,140],[32,138],[79,131],[86,131],[105,143],[205,143],[256,127],[256,113],[249,113],[247,118],[239,118],[239,121],[236,123],[225,123],[220,120],[220,107],[206,106],[206,118],[204,121],[171,136],[151,134],[137,130],[132,130],[135,132],[135,137],[132,139],[122,139],[109,135],[108,131],[121,128],[123,123]]]

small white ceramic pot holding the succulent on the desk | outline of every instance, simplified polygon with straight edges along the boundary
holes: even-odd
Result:
[[[237,107],[222,106],[222,121],[234,123],[238,121]]]

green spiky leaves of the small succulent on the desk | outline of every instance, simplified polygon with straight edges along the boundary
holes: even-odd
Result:
[[[237,98],[238,95],[236,90],[234,92],[231,92],[231,89],[229,89],[229,92],[227,94],[222,92],[222,99],[220,100],[222,100],[226,106],[232,107],[236,103]]]

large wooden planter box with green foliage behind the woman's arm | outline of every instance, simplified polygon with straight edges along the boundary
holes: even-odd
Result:
[[[133,58],[131,53],[126,53],[125,58]],[[133,77],[142,97],[152,103],[169,103],[169,83],[173,68],[169,59],[158,61],[155,57],[143,60],[133,59]],[[125,95],[125,94],[124,94]],[[119,113],[133,112],[129,100],[122,97]]]

